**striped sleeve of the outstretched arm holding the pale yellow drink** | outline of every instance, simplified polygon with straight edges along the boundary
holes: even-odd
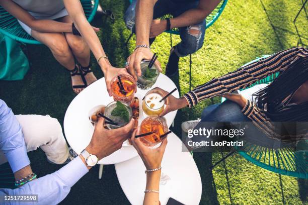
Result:
[[[287,69],[288,64],[296,56],[305,57],[307,55],[308,52],[300,47],[280,51],[270,57],[243,66],[234,72],[213,78],[195,87],[192,91],[186,93],[184,97],[188,100],[189,107],[195,106],[204,99],[246,88],[257,80]]]

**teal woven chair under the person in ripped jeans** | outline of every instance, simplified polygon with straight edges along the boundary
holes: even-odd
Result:
[[[132,3],[132,0],[129,0],[130,3]],[[206,21],[206,28],[209,28],[210,26],[212,26],[214,24],[214,22],[218,19],[218,17],[221,15],[221,13],[223,12],[226,3],[228,2],[228,0],[221,0],[220,3],[217,5],[217,7],[212,11],[212,13],[210,13],[205,21]],[[166,19],[166,18],[172,18],[171,15],[167,14],[165,16],[163,16],[161,19]],[[170,45],[172,47],[172,34],[175,35],[179,35],[179,29],[178,28],[174,28],[170,31],[166,31],[167,33],[170,33]],[[131,38],[131,36],[133,35],[133,33],[131,33],[131,35],[128,37],[127,42],[129,41],[129,39]],[[191,90],[191,65],[192,65],[192,61],[191,61],[191,54],[189,55],[190,60],[189,60],[189,90]]]

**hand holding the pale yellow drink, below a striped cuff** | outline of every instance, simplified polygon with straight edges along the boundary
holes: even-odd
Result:
[[[164,94],[164,96],[169,93],[166,90],[163,90],[159,87],[156,87],[154,89],[161,91]],[[176,98],[172,94],[169,95],[169,97],[167,97],[165,104],[166,104],[166,107],[163,110],[163,112],[160,114],[160,117],[163,117],[163,116],[165,116],[166,114],[168,114],[172,111],[179,110],[179,109],[184,108],[188,105],[187,100],[184,97]]]

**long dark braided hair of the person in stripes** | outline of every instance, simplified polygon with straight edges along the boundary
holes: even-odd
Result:
[[[295,105],[283,111],[277,110],[281,101],[291,92],[296,91],[307,80],[308,57],[300,57],[281,72],[271,84],[254,93],[256,100],[258,100],[257,106],[266,110],[265,112],[271,121],[308,121],[308,102]]]

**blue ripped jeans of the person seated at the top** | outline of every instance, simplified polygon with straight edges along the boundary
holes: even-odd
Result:
[[[136,0],[133,0],[125,12],[126,27],[135,32]],[[171,14],[174,18],[184,12],[197,8],[199,1],[158,0],[154,6],[153,19]],[[187,56],[199,50],[204,41],[206,21],[205,19],[195,25],[179,28],[181,42],[176,45],[175,52],[179,57]]]

